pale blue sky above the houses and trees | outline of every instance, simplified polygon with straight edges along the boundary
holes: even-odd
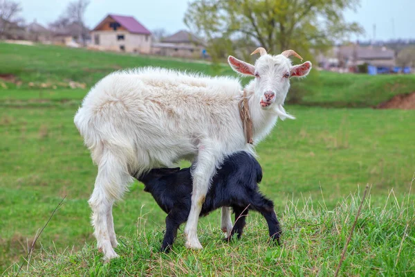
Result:
[[[17,0],[19,1],[19,0]],[[71,0],[20,0],[27,22],[37,19],[47,25]],[[108,13],[132,15],[149,30],[165,28],[168,33],[185,28],[183,15],[189,0],[91,0],[86,24],[93,28]],[[357,21],[366,30],[359,39],[415,38],[415,0],[360,0],[357,12],[347,11],[347,21]],[[393,22],[393,23],[392,23]],[[394,26],[394,27],[393,27]],[[355,39],[356,37],[353,37]]]

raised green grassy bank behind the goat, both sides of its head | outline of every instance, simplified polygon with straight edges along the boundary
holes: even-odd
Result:
[[[137,66],[162,66],[203,72],[207,75],[235,75],[226,64],[212,66],[203,62],[44,45],[23,46],[0,43],[0,61],[0,75],[15,75],[16,82],[19,82],[19,84],[3,82],[6,87],[44,91],[50,91],[54,86],[57,89],[67,88],[70,81],[86,84],[88,88],[112,71]],[[245,78],[243,82],[248,80],[250,79]],[[3,89],[1,82],[0,80],[0,93]],[[414,74],[371,76],[313,71],[305,79],[292,79],[288,100],[296,94],[303,96],[298,100],[302,105],[373,107],[397,94],[414,91]]]

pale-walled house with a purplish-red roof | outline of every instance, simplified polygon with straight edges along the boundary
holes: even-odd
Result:
[[[92,44],[101,50],[148,54],[151,32],[134,17],[107,15],[91,30]]]

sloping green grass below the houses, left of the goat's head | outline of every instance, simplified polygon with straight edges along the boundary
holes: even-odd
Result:
[[[0,43],[0,74],[13,74],[22,82],[21,87],[42,83],[50,87],[65,87],[68,81],[95,84],[112,71],[137,66],[163,66],[205,74],[232,73],[229,66],[212,67],[206,63],[186,62],[138,55],[120,55],[59,46],[22,46]],[[12,86],[13,87],[13,86]],[[1,86],[0,86],[1,89]]]

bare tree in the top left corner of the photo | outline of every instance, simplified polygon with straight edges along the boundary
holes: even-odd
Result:
[[[0,0],[0,39],[13,28],[24,22],[24,19],[19,17],[21,12],[19,2],[12,0]]]

